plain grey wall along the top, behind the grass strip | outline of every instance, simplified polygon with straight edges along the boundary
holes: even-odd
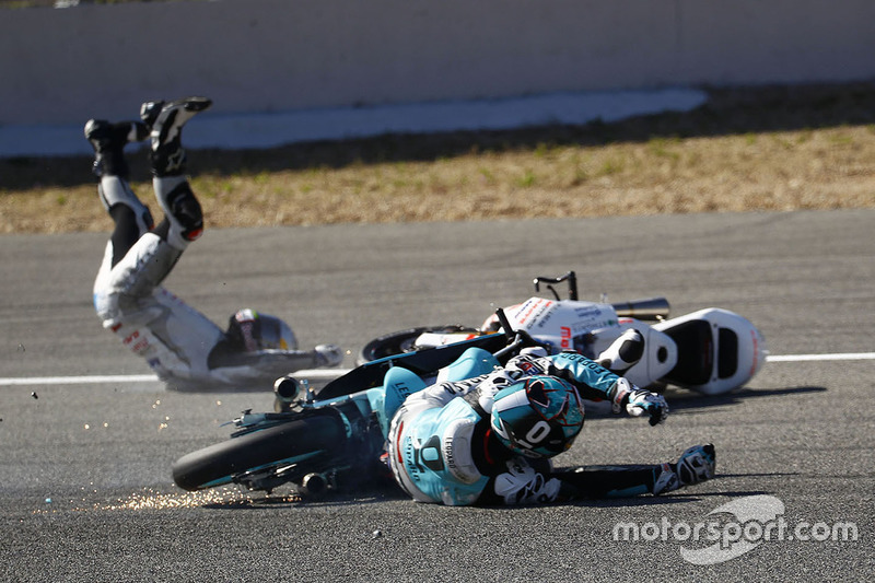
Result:
[[[875,78],[872,0],[218,0],[0,11],[0,126]]]

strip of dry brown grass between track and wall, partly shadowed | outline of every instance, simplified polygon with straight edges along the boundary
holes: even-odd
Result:
[[[212,228],[871,208],[874,116],[872,84],[768,88],[615,125],[192,151],[189,166]],[[106,231],[89,170],[0,161],[0,232]]]

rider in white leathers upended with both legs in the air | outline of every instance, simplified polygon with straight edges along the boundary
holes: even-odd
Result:
[[[97,193],[115,222],[94,282],[97,315],[175,389],[267,388],[299,369],[336,366],[343,358],[337,346],[299,350],[279,318],[242,310],[223,331],[161,285],[203,231],[200,203],[185,176],[180,135],[185,123],[210,105],[203,97],[148,102],[141,121],[91,119],[85,125]],[[127,143],[144,139],[151,143],[152,185],[164,211],[158,226],[130,188],[122,152]]]

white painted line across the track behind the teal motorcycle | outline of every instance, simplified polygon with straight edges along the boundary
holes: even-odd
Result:
[[[837,360],[875,360],[875,352],[839,352],[835,354],[769,354],[766,362],[806,362]],[[350,369],[319,369],[294,372],[294,376],[312,381],[331,381],[348,373]],[[27,385],[95,385],[107,383],[158,383],[152,374],[109,374],[91,376],[30,376],[0,377],[0,386]]]

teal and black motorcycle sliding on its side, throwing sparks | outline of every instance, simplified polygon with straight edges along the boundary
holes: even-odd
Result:
[[[269,493],[291,483],[315,497],[347,489],[378,471],[389,422],[408,395],[435,381],[489,373],[527,346],[540,345],[518,331],[395,354],[352,369],[318,393],[281,377],[272,412],[244,411],[229,440],[180,457],[173,479],[191,491],[236,483]]]

